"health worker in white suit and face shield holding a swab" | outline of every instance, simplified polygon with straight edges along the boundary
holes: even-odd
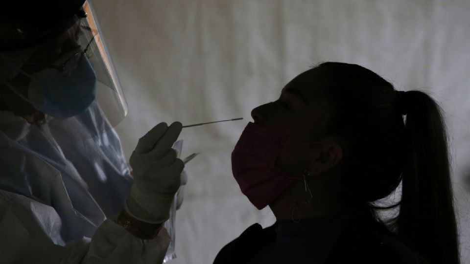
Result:
[[[91,3],[2,7],[0,263],[162,263],[181,123],[139,139],[131,176],[113,129],[127,105]]]

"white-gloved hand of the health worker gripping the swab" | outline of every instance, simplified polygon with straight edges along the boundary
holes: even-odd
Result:
[[[139,139],[129,160],[134,183],[124,204],[132,217],[148,223],[169,219],[171,203],[185,167],[171,148],[181,130],[180,122],[169,127],[162,122]]]

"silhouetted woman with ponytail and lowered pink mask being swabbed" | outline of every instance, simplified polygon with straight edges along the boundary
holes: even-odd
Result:
[[[214,264],[460,263],[447,131],[428,94],[327,62],[251,114],[233,174],[277,221],[250,226]],[[376,206],[400,183],[397,204]],[[395,217],[378,217],[398,206]]]

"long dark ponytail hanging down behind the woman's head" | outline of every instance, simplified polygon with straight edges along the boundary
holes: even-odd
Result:
[[[422,91],[403,96],[408,109],[398,236],[428,263],[459,264],[459,243],[442,110]]]

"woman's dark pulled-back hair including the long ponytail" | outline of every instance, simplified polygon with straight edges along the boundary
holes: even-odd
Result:
[[[447,129],[440,106],[420,90],[407,91],[397,102],[393,85],[362,66],[327,62],[313,70],[326,83],[318,98],[332,110],[325,134],[341,140],[345,198],[367,204],[377,221],[427,263],[459,264]],[[399,103],[406,107],[405,120]],[[375,205],[400,182],[399,203]],[[397,206],[398,216],[380,220],[376,210]]]

